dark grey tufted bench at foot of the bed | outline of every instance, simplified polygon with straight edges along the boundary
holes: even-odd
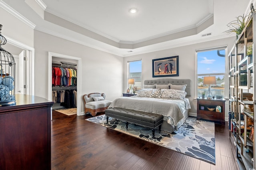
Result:
[[[161,125],[163,123],[163,115],[154,113],[147,113],[143,111],[136,111],[124,108],[109,108],[105,110],[105,115],[108,123],[108,117],[125,121],[126,129],[128,129],[128,123],[134,123],[139,126],[152,128],[152,136],[155,136],[155,129],[158,127],[159,133],[161,131]]]

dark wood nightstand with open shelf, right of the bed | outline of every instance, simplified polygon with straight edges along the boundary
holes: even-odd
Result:
[[[222,125],[225,125],[225,102],[224,99],[197,98],[196,119],[220,121]]]

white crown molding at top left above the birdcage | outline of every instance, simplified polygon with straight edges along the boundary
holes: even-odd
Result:
[[[32,23],[30,20],[28,20],[27,18],[25,18],[24,16],[22,16],[20,13],[18,13],[16,10],[14,10],[12,7],[8,6],[5,2],[3,2],[2,0],[0,0],[0,7],[2,7],[4,10],[6,10],[7,12],[9,12],[10,14],[12,14],[13,16],[15,16],[16,18],[18,18],[19,20],[23,21],[24,23],[26,23],[29,27],[31,27],[32,29],[34,29],[36,27],[36,25],[34,23]]]

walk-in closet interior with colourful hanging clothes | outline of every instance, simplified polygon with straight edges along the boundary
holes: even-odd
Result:
[[[52,109],[66,115],[76,114],[77,61],[52,57]]]

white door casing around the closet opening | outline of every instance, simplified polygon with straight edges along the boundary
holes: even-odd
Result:
[[[73,57],[73,56],[68,56],[68,55],[63,55],[63,54],[58,54],[58,53],[52,53],[52,52],[48,52],[48,100],[52,101],[52,90],[53,86],[52,86],[52,61],[68,61],[71,63],[76,63],[76,74],[77,74],[77,78],[76,78],[76,114],[79,116],[81,115],[81,58],[78,57]],[[73,62],[72,62],[73,61]],[[57,106],[58,107],[58,106]],[[52,118],[52,115],[51,115]]]

